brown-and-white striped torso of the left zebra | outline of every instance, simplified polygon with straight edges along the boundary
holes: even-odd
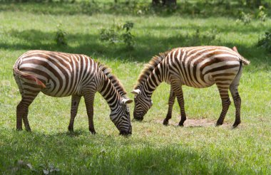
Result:
[[[86,55],[39,50],[24,53],[14,65],[14,71],[38,78],[45,85],[41,91],[53,97],[80,95],[84,85],[95,78],[97,68],[97,63]],[[35,90],[36,83],[21,80]]]

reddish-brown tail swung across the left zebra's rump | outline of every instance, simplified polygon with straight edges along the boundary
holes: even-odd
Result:
[[[42,88],[46,88],[46,85],[44,85],[44,83],[42,83],[41,80],[36,78],[35,75],[32,75],[31,73],[24,73],[21,70],[19,70],[20,63],[21,63],[21,59],[19,58],[13,67],[14,75],[19,76],[19,78],[25,78],[27,80],[34,80],[37,85],[40,85]]]

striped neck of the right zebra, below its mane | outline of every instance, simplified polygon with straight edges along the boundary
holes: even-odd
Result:
[[[142,92],[144,92],[146,96],[150,97],[158,85],[163,82],[163,69],[163,63],[159,63],[153,72],[150,73],[145,83],[143,83]]]

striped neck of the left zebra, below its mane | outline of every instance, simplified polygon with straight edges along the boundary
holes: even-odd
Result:
[[[103,78],[101,79],[101,88],[98,92],[101,93],[103,98],[108,103],[111,111],[116,110],[116,107],[121,103],[121,95],[118,93],[113,83],[111,83],[110,79],[103,74]]]

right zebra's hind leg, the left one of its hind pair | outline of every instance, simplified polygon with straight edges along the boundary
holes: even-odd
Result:
[[[222,101],[222,111],[220,113],[220,117],[218,118],[218,122],[216,122],[216,126],[222,125],[227,114],[227,110],[230,107],[230,97],[229,97],[229,85],[217,83],[218,90],[220,93],[221,101]]]

